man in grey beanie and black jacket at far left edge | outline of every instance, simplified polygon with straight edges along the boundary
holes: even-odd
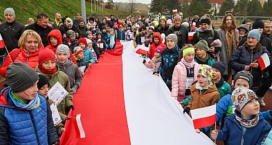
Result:
[[[8,52],[10,52],[15,48],[19,48],[18,40],[21,37],[21,34],[24,32],[25,26],[15,20],[15,11],[13,8],[6,8],[3,13],[6,22],[0,25],[0,34],[4,43],[6,44]],[[7,54],[6,49],[0,49],[0,55],[4,55],[3,61],[5,61]],[[0,62],[2,63],[2,61]]]

